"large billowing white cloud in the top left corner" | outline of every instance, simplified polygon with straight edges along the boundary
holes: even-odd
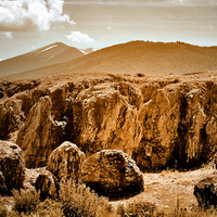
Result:
[[[63,14],[64,0],[0,0],[0,31],[48,30],[52,23],[75,24]]]

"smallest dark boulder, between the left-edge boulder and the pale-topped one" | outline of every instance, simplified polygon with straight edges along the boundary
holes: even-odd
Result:
[[[41,170],[36,180],[36,190],[40,191],[40,199],[56,199],[59,192],[58,179],[48,170]]]

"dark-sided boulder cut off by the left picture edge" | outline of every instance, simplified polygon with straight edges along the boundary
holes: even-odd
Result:
[[[25,162],[18,145],[0,140],[0,184],[1,193],[10,193],[12,189],[23,187]]]

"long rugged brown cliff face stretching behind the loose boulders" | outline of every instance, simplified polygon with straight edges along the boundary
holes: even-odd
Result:
[[[123,150],[144,170],[193,166],[216,151],[214,81],[106,76],[3,95],[0,139],[18,133],[28,167],[46,166],[63,141],[87,156]]]

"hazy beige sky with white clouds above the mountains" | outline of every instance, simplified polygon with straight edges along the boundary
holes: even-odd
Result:
[[[0,0],[0,60],[131,40],[217,46],[217,0]]]

